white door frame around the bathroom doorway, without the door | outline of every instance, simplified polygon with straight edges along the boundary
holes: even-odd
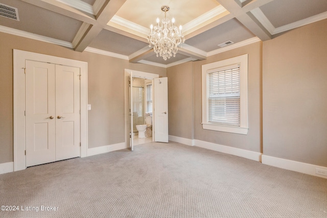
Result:
[[[143,72],[143,71],[137,71],[137,70],[132,70],[132,69],[125,69],[125,145],[126,148],[130,148],[130,135],[129,135],[129,131],[130,131],[130,112],[129,112],[129,83],[128,83],[128,79],[131,75],[132,72],[132,76],[133,77],[138,77],[138,78],[144,78],[144,79],[150,79],[153,80],[154,78],[159,78],[158,74],[152,74],[150,72]],[[153,127],[152,127],[153,129]],[[152,138],[153,138],[153,134],[152,134]]]

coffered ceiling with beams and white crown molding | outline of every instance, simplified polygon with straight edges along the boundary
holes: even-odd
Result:
[[[47,41],[78,52],[162,67],[208,56],[327,18],[326,0],[0,0],[19,20],[0,16],[0,31]],[[156,57],[150,25],[167,17],[183,26],[176,57]],[[327,28],[327,27],[326,27]],[[225,47],[218,44],[232,41]]]

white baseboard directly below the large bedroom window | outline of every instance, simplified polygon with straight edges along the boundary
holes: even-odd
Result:
[[[250,160],[255,160],[261,162],[262,153],[252,152],[244,149],[233,148],[230,146],[222,146],[221,144],[216,144],[207,141],[194,140],[194,145],[197,147],[214,150],[217,152],[222,152],[226,154],[231,154],[239,157],[244,157]]]

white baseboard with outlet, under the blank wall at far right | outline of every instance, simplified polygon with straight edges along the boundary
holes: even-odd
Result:
[[[278,157],[271,157],[267,155],[262,155],[262,163],[327,179],[327,176],[316,174],[316,168],[327,171],[327,167],[324,166],[313,165],[310,163],[303,163],[294,160],[287,160]]]

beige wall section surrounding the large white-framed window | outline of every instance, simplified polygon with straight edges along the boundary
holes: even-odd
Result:
[[[248,134],[202,129],[201,66],[248,54]],[[262,152],[262,42],[224,52],[194,64],[195,139]]]

